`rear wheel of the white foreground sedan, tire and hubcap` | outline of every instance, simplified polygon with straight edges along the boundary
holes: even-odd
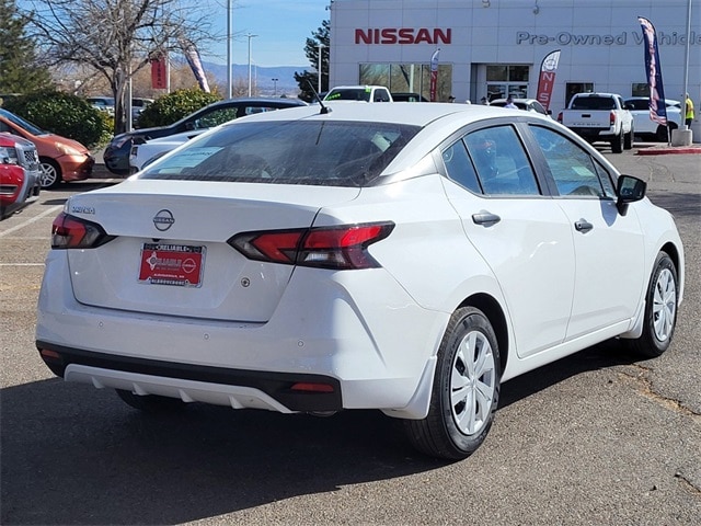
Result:
[[[420,451],[458,460],[484,442],[498,405],[499,351],[486,316],[473,307],[458,309],[437,358],[428,414],[405,420],[404,431]]]

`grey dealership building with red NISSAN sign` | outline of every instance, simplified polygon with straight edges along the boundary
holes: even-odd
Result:
[[[681,100],[686,79],[699,122],[701,0],[332,0],[330,10],[331,87],[428,99],[433,69],[438,101],[536,98],[543,59],[559,49],[553,113],[578,92],[647,96],[643,16],[656,30],[665,96]]]

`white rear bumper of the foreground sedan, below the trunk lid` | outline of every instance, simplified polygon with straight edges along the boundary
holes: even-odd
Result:
[[[354,295],[346,296],[344,287],[357,286],[354,279],[367,286],[370,272],[336,273],[346,282],[324,287],[318,274],[306,277],[304,270],[298,270],[289,294],[265,323],[89,307],[73,296],[67,260],[65,251],[47,258],[37,347],[49,351],[42,355],[55,374],[68,371],[67,380],[97,387],[133,386],[134,392],[232,407],[263,404],[283,412],[401,411],[426,378],[449,318],[416,306],[397,284],[377,286],[368,305],[349,301]],[[357,276],[347,283],[350,274]],[[299,290],[311,290],[311,297],[301,300]],[[184,388],[182,381],[196,385]],[[333,392],[296,393],[291,386],[298,382],[331,385]],[[209,393],[205,399],[189,392],[203,384]],[[256,396],[246,402],[232,386],[244,393],[253,389]],[[265,402],[268,398],[284,409]],[[411,416],[422,418],[415,412]]]

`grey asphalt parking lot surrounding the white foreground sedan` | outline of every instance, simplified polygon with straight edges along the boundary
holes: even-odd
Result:
[[[460,462],[418,455],[379,412],[154,418],[55,378],[34,347],[50,224],[69,195],[115,181],[43,192],[0,222],[0,524],[701,524],[701,155],[639,146],[602,151],[676,217],[671,348],[641,362],[607,342],[506,382]]]

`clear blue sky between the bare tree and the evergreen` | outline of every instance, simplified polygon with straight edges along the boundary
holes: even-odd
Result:
[[[227,34],[227,0],[209,0],[209,8],[221,10],[212,16],[217,32]],[[309,66],[304,43],[330,16],[329,0],[234,0],[232,10],[233,64],[248,64],[251,33],[251,61],[257,66]],[[226,43],[211,45],[203,60],[227,64]]]

